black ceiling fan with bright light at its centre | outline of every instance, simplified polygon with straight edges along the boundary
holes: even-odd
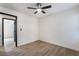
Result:
[[[52,7],[51,5],[42,7],[41,3],[36,3],[36,6],[37,6],[37,8],[34,8],[34,7],[27,7],[27,8],[28,9],[35,9],[36,11],[34,12],[34,14],[36,14],[38,12],[42,12],[43,14],[45,14],[46,12],[44,11],[44,9],[48,9],[48,8]]]

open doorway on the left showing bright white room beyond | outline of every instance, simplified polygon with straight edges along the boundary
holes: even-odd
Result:
[[[2,45],[4,47],[15,47],[16,43],[16,20],[2,18]]]

